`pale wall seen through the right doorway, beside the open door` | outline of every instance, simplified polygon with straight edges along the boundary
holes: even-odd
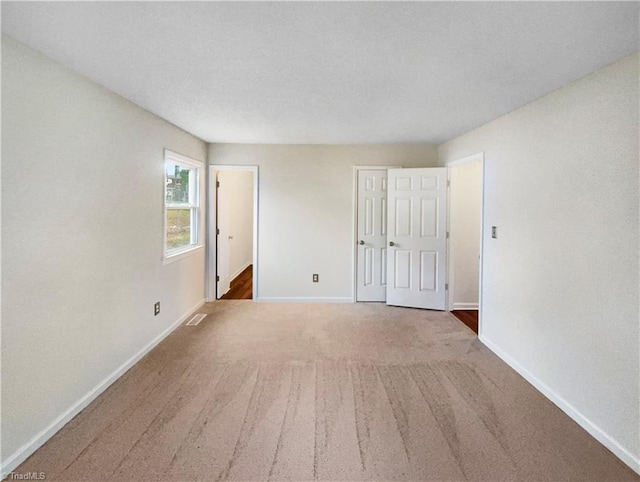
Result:
[[[472,310],[479,301],[482,163],[452,167],[450,181],[449,309]]]

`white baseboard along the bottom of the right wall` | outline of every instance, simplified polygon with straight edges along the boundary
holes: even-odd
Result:
[[[564,398],[555,393],[551,388],[549,388],[546,384],[538,380],[535,376],[533,376],[529,371],[524,368],[520,363],[511,358],[509,355],[504,353],[500,348],[498,348],[491,340],[487,339],[486,336],[482,334],[478,337],[482,343],[484,343],[487,348],[489,348],[492,352],[498,355],[507,365],[513,368],[516,372],[518,372],[525,380],[527,380],[531,385],[533,385],[540,393],[542,393],[545,397],[551,400],[560,410],[566,413],[569,417],[571,417],[578,425],[584,428],[589,434],[595,438],[598,442],[608,448],[613,454],[622,460],[625,464],[627,464],[634,472],[640,474],[640,458],[634,456],[631,452],[629,452],[626,448],[620,445],[613,437],[607,434],[604,430],[598,427],[595,423],[589,420],[587,417],[582,415],[578,410],[576,410],[573,405],[567,402]]]

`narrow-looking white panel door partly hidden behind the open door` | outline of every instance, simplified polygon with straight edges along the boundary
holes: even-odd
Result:
[[[358,171],[356,301],[385,301],[387,293],[387,171]]]

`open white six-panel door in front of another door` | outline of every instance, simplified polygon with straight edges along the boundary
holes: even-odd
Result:
[[[387,304],[446,308],[447,170],[388,171]]]

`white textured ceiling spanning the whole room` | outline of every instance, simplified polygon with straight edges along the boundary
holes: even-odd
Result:
[[[637,2],[2,2],[208,142],[440,143],[638,50]]]

